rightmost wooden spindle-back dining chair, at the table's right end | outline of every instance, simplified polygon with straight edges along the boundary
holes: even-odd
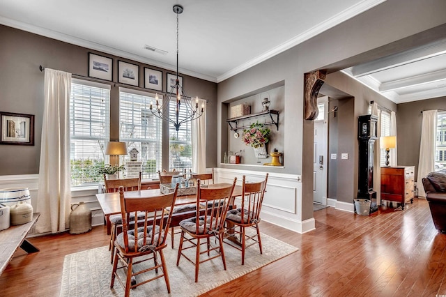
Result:
[[[232,209],[226,214],[225,243],[242,252],[242,265],[245,265],[245,250],[256,243],[259,244],[262,253],[262,242],[260,238],[259,222],[260,211],[265,195],[268,173],[263,181],[247,183],[243,176],[241,207]],[[246,229],[253,227],[256,234],[246,234]],[[238,238],[237,238],[238,237]],[[236,238],[241,245],[233,244],[231,239]],[[249,241],[249,244],[247,244]]]

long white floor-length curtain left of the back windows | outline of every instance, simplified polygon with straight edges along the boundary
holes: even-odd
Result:
[[[36,224],[38,233],[58,233],[70,218],[71,73],[45,68],[44,111]]]

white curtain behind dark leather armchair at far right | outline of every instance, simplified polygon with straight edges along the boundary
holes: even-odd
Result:
[[[420,158],[418,159],[418,196],[426,197],[422,178],[435,171],[435,146],[437,135],[437,111],[424,110],[421,128]]]

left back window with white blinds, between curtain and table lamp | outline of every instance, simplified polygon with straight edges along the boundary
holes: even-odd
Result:
[[[109,140],[110,87],[72,79],[70,96],[71,185],[91,185],[102,180]]]

